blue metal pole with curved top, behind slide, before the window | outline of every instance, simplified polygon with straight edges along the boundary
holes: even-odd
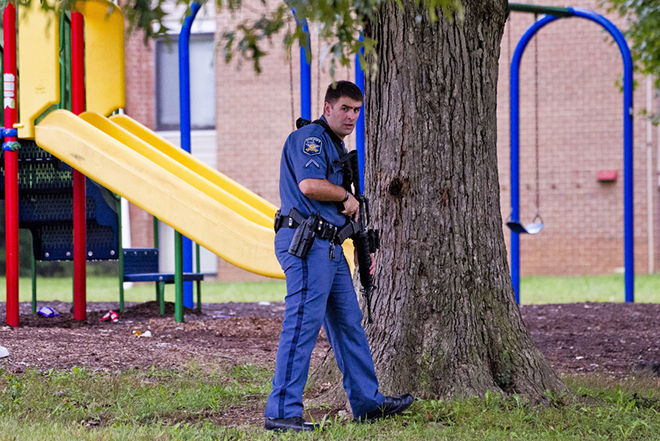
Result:
[[[190,31],[197,12],[202,7],[201,3],[194,2],[190,5],[190,14],[186,16],[179,34],[179,109],[180,109],[180,131],[181,148],[186,152],[191,151],[190,141]],[[179,232],[175,233],[176,235]],[[182,259],[183,265],[176,265],[177,271],[192,272],[192,241],[182,238]],[[182,268],[182,269],[181,269]],[[179,279],[181,280],[181,279]],[[192,282],[184,282],[183,287],[176,286],[177,294],[183,290],[183,305],[187,308],[193,308],[193,286]],[[177,295],[177,301],[179,296]]]

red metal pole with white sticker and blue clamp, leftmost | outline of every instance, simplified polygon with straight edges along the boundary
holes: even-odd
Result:
[[[16,9],[8,3],[3,16],[5,156],[5,237],[7,249],[7,324],[18,326],[18,122],[16,108]]]

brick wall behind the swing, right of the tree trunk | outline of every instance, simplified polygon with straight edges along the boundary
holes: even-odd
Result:
[[[559,2],[543,4],[563,6]],[[572,6],[598,11],[595,1]],[[604,13],[604,11],[599,11]],[[624,23],[609,17],[621,29]],[[532,24],[532,14],[512,13],[502,41],[498,84],[498,156],[502,215],[510,214],[509,72],[510,53]],[[536,42],[535,42],[536,40]],[[596,23],[569,18],[540,30],[521,65],[520,199],[521,221],[535,208],[534,50],[538,44],[538,150],[541,213],[546,227],[521,237],[522,274],[604,274],[623,266],[623,76],[621,55]],[[509,50],[510,49],[510,50]],[[511,52],[510,52],[511,51]],[[645,79],[635,80],[645,84]],[[646,122],[639,116],[646,88],[634,95],[635,260],[648,270]],[[654,145],[657,141],[654,142]],[[655,152],[654,152],[655,174]],[[596,180],[598,170],[617,170],[613,183]],[[657,211],[657,187],[654,206]],[[657,218],[657,216],[655,216]],[[657,246],[657,220],[653,231]],[[509,240],[508,229],[505,237]],[[657,264],[655,265],[657,268]]]

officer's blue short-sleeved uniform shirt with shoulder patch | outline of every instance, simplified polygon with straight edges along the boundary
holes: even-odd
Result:
[[[305,217],[319,213],[326,221],[342,227],[348,218],[339,210],[341,203],[310,199],[298,184],[305,179],[327,179],[341,186],[343,176],[339,153],[322,126],[308,124],[291,133],[284,143],[280,163],[282,214],[287,215],[292,208]]]

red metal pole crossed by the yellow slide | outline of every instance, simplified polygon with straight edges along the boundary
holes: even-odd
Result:
[[[71,13],[71,106],[76,115],[85,111],[84,20]],[[73,171],[73,318],[87,318],[87,214],[85,175]]]

